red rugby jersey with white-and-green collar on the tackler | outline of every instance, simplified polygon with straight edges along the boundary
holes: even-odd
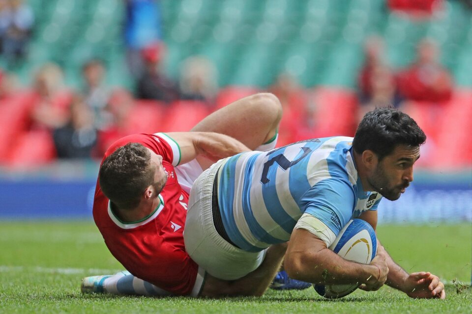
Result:
[[[174,170],[180,161],[179,147],[164,133],[133,134],[112,144],[104,159],[131,142],[141,143],[163,158],[168,179],[159,194],[161,204],[140,221],[122,222],[113,214],[97,181],[93,201],[95,224],[110,252],[134,276],[174,294],[196,296],[205,272],[199,270],[184,247],[188,194],[178,184]]]

